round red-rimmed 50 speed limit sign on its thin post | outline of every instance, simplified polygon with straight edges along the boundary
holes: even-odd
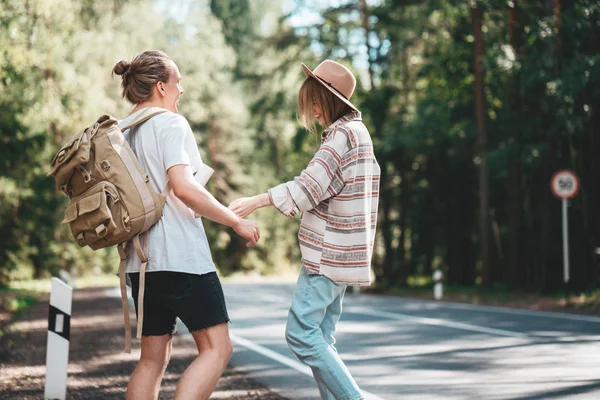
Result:
[[[558,171],[550,182],[552,193],[562,202],[563,225],[563,281],[565,283],[565,299],[568,302],[567,288],[569,284],[569,219],[567,214],[568,200],[574,197],[579,190],[579,179],[574,172],[569,170]],[[566,303],[565,303],[566,304]]]

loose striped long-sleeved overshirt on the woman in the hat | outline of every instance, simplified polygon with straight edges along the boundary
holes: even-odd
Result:
[[[298,239],[308,274],[336,283],[371,283],[381,170],[359,112],[323,132],[319,151],[293,181],[269,189],[288,217],[302,211]]]

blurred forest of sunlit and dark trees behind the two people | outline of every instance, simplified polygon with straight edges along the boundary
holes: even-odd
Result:
[[[71,135],[131,110],[113,65],[161,49],[179,65],[208,187],[224,204],[297,175],[319,144],[296,119],[300,62],[358,77],[382,166],[379,288],[442,269],[448,283],[552,292],[563,280],[571,169],[571,287],[600,285],[600,2],[596,0],[0,0],[0,284],[93,266],[46,177]],[[595,156],[596,155],[596,156]],[[205,221],[223,275],[295,271],[298,221],[260,210],[246,249]]]

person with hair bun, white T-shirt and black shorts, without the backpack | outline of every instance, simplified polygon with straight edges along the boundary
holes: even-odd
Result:
[[[202,160],[187,120],[177,113],[183,94],[181,74],[165,53],[146,51],[131,62],[118,62],[123,97],[134,105],[120,122],[127,125],[148,107],[162,114],[124,132],[159,193],[170,182],[172,192],[162,218],[149,231],[141,357],[127,386],[127,399],[156,399],[169,362],[176,318],[191,332],[198,357],[185,370],[175,399],[208,399],[231,356],[227,309],[206,234],[194,213],[229,226],[253,246],[256,223],[238,217],[196,182],[193,168]],[[191,211],[190,211],[191,209]],[[137,312],[140,260],[128,254],[127,273]]]

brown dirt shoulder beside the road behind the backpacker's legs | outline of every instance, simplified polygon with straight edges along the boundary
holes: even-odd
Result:
[[[132,321],[135,315],[131,314]],[[1,339],[0,399],[40,399],[44,395],[48,298],[10,323]],[[68,399],[124,399],[129,376],[139,358],[139,341],[123,353],[121,303],[106,289],[73,292]],[[159,399],[172,399],[177,381],[197,354],[194,344],[176,335],[173,355]],[[211,398],[285,400],[228,368]]]

